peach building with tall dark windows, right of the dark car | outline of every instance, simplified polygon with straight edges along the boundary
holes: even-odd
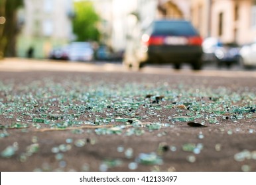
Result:
[[[255,0],[192,0],[192,22],[206,38],[246,44],[256,38]]]

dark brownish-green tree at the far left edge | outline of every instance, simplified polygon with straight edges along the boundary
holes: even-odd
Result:
[[[15,55],[15,41],[18,32],[17,9],[23,5],[22,0],[0,0],[0,17],[5,19],[0,24],[0,58]]]

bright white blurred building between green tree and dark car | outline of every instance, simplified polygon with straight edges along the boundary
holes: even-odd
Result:
[[[155,19],[157,0],[92,1],[101,17],[101,42],[113,51],[125,50],[127,42],[139,34],[143,26]]]

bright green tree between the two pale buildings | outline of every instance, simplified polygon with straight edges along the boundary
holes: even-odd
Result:
[[[77,36],[77,41],[99,40],[99,30],[97,22],[99,16],[94,10],[92,2],[77,1],[74,3],[76,16],[73,20],[73,31]]]

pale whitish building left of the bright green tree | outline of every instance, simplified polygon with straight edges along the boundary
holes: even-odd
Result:
[[[33,57],[45,58],[55,46],[72,40],[72,0],[24,0],[19,11],[23,28],[18,37],[17,54],[26,57],[29,50]]]

